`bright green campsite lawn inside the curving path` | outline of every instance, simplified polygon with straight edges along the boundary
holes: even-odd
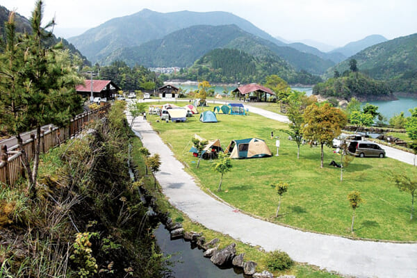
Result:
[[[295,142],[278,131],[286,128],[281,122],[254,113],[218,115],[218,123],[206,124],[199,122],[199,115],[188,118],[185,123],[156,122],[157,118],[150,115],[148,120],[177,158],[188,166],[187,170],[198,177],[202,188],[242,211],[300,229],[352,236],[352,209],[347,194],[359,190],[366,202],[357,208],[354,237],[417,240],[417,221],[409,220],[411,195],[400,192],[391,181],[393,173],[416,177],[416,168],[411,165],[391,158],[355,158],[345,168],[341,182],[340,169],[328,165],[332,160],[340,161],[340,156],[325,147],[325,167],[321,169],[320,148],[304,145],[297,160]],[[224,175],[220,193],[215,191],[220,174],[211,170],[212,162],[202,161],[197,169],[197,158],[188,152],[191,138],[197,133],[208,140],[219,138],[223,147],[232,139],[261,138],[276,154],[275,139],[270,139],[272,130],[281,140],[279,156],[232,161],[234,167]],[[275,218],[279,196],[270,184],[278,181],[287,182],[290,187],[282,198],[279,217]]]

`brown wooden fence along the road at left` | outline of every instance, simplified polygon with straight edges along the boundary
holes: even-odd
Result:
[[[65,127],[52,127],[49,126],[47,131],[42,131],[40,135],[40,153],[46,153],[52,147],[60,145],[61,142],[65,142],[67,139],[72,138],[83,130],[85,123],[91,120],[97,120],[104,117],[108,113],[111,104],[101,106],[100,108],[81,113],[76,115],[70,124]],[[35,145],[38,142],[38,138],[35,138],[34,134],[31,134],[31,138],[23,142],[23,148],[28,156],[28,161],[33,161],[35,156]],[[9,185],[15,186],[17,180],[25,177],[26,172],[22,163],[22,152],[19,151],[19,146],[15,145],[9,149],[6,145],[1,146],[0,156],[0,184],[2,187]]]

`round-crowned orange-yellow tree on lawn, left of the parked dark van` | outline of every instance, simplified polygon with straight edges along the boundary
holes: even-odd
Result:
[[[334,138],[341,135],[341,129],[347,120],[345,114],[329,104],[312,104],[304,111],[304,138],[319,142],[321,145],[320,167],[323,167],[325,144],[331,145]]]

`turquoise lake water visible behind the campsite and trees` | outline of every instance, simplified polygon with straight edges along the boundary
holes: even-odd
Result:
[[[197,90],[197,85],[190,85],[190,84],[174,84],[178,85],[183,90]],[[306,92],[306,95],[311,95],[313,93],[313,88],[304,88],[304,87],[291,87],[293,90],[298,90],[302,92]],[[227,92],[231,92],[231,90],[236,89],[235,86],[222,86],[217,85],[213,86],[213,89],[218,94],[223,94],[224,89],[227,90]],[[409,113],[410,108],[417,107],[417,99],[411,98],[411,97],[398,97],[398,100],[393,101],[368,101],[363,102],[362,106],[366,103],[373,104],[375,106],[378,106],[378,112],[381,113],[386,117],[386,119],[389,120],[389,118],[393,117],[394,114],[400,114],[401,112],[404,112],[405,117],[408,117],[411,115]]]

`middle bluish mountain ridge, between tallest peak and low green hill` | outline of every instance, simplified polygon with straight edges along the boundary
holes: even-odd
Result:
[[[170,33],[161,40],[152,40],[138,47],[115,51],[104,60],[124,60],[128,65],[147,67],[188,67],[215,48],[240,49],[253,56],[275,54],[293,65],[296,70],[322,74],[334,63],[313,54],[305,54],[291,47],[277,44],[247,33],[236,25],[192,26]]]

